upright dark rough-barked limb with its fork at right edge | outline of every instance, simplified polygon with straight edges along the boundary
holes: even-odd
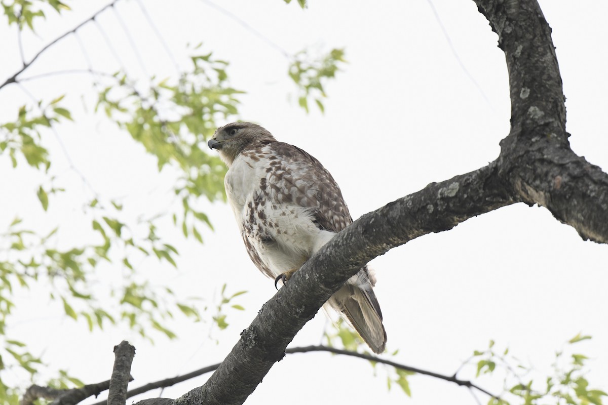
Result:
[[[511,132],[500,143],[502,179],[583,239],[608,243],[608,174],[576,155],[551,28],[536,1],[475,0],[499,35],[511,94]]]

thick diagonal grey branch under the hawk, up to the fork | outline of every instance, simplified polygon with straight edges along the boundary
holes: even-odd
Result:
[[[494,163],[396,200],[365,214],[311,257],[286,287],[263,305],[206,384],[175,404],[241,404],[300,328],[362,265],[418,236],[514,202]]]

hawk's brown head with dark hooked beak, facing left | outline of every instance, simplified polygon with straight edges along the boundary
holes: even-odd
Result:
[[[238,154],[263,141],[275,141],[275,138],[258,124],[233,122],[216,129],[207,145],[218,149],[219,157],[230,166]]]

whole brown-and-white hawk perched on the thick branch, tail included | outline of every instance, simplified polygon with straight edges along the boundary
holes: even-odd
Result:
[[[289,279],[353,219],[323,165],[296,146],[278,142],[257,124],[232,123],[209,140],[228,166],[224,186],[249,257],[266,276]],[[337,310],[375,353],[386,332],[367,266],[325,305]]]

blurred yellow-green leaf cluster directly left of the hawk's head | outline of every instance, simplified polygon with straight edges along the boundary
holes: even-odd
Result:
[[[206,140],[218,119],[237,114],[236,96],[243,92],[227,85],[227,63],[214,60],[212,53],[190,60],[192,70],[182,73],[176,83],[160,80],[145,93],[125,74],[112,75],[116,83],[100,92],[97,108],[155,155],[159,170],[171,165],[182,172],[174,193],[182,200],[183,211],[174,213],[173,221],[181,225],[184,236],[202,242],[196,222],[207,226],[211,222],[193,208],[196,199],[225,199],[226,166],[207,154]]]

